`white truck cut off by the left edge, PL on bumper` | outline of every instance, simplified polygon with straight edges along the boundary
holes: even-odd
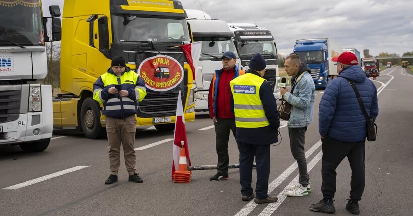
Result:
[[[60,16],[58,7],[50,11]],[[52,87],[41,84],[47,75],[45,41],[60,40],[60,19],[51,19],[53,39],[48,37],[40,1],[4,3],[0,20],[0,145],[40,152],[53,132]]]

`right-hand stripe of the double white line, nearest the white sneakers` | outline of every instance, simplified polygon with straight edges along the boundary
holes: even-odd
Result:
[[[323,151],[320,151],[314,158],[313,160],[310,161],[310,163],[307,164],[307,170],[310,172],[310,170],[318,163],[318,161],[322,158],[323,156]],[[300,175],[298,174],[285,188],[283,191],[281,191],[277,197],[278,201],[274,203],[268,204],[268,206],[259,214],[259,216],[264,216],[264,215],[271,215],[274,213],[274,211],[277,210],[277,208],[283,203],[283,201],[287,198],[285,193],[290,190],[291,186],[294,186],[298,182],[298,177]]]

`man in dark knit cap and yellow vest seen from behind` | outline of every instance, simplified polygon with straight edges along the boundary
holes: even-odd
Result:
[[[271,203],[277,196],[268,196],[268,179],[271,167],[270,146],[276,143],[280,126],[276,99],[271,86],[262,77],[266,62],[261,54],[255,54],[245,75],[230,82],[235,113],[236,140],[240,151],[240,184],[242,200],[255,198],[252,182],[252,166],[257,163],[255,203]]]

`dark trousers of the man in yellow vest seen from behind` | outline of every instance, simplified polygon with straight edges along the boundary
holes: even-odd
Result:
[[[251,145],[238,143],[239,147],[239,175],[241,193],[243,196],[250,196],[253,192],[252,165],[257,163],[257,185],[255,187],[256,198],[265,199],[268,197],[268,179],[271,168],[270,145]]]

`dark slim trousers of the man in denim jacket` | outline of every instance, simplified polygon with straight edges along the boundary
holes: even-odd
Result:
[[[305,132],[307,127],[303,128],[288,128],[288,136],[290,137],[290,149],[294,159],[298,164],[299,178],[298,183],[307,187],[310,176],[307,172],[307,160],[305,158],[304,144]]]

